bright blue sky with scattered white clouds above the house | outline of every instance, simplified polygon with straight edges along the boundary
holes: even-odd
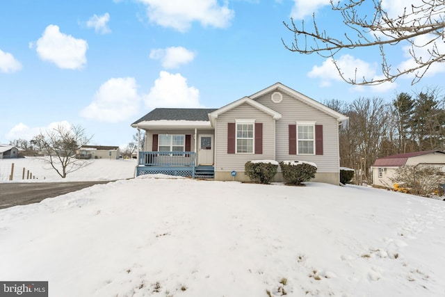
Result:
[[[413,1],[386,0],[396,13]],[[409,3],[408,3],[409,2]],[[329,0],[10,0],[0,3],[0,143],[31,140],[58,123],[91,144],[126,145],[131,123],[156,107],[218,108],[277,81],[318,102],[440,87],[445,65],[373,87],[343,82],[332,63],[292,53],[290,17],[342,33]],[[410,63],[404,45],[388,52]],[[344,51],[344,70],[378,75],[377,49]]]

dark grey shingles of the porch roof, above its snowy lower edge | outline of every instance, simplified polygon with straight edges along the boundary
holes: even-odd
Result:
[[[203,120],[209,121],[208,114],[216,111],[216,109],[154,109],[144,115],[142,118],[133,122],[132,125],[138,122],[149,120]]]

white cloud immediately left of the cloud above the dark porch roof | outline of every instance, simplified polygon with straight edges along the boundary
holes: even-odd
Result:
[[[99,122],[122,122],[139,111],[140,96],[133,77],[108,79],[97,90],[91,104],[83,109],[83,118]]]

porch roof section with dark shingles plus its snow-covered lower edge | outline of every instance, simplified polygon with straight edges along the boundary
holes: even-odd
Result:
[[[131,127],[184,125],[210,126],[209,113],[216,109],[154,109],[133,122]]]

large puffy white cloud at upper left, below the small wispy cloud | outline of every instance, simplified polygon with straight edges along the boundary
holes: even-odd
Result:
[[[60,33],[58,26],[49,25],[37,42],[31,42],[43,61],[49,61],[64,69],[79,69],[86,65],[86,40]]]

